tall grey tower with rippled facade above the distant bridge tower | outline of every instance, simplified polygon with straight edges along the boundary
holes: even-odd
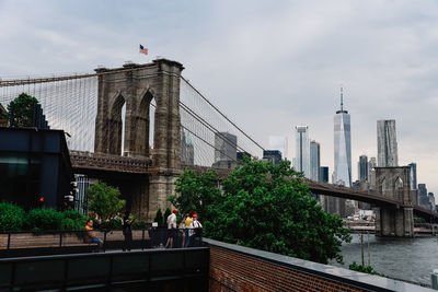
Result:
[[[399,166],[394,119],[377,121],[377,157],[379,167]]]

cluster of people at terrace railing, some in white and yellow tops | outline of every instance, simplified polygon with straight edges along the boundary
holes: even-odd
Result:
[[[176,230],[176,213],[177,210],[173,209],[168,217],[168,229],[174,231],[171,231],[165,247],[177,247],[175,246],[177,238],[181,238],[181,247],[196,246],[196,241],[201,237],[203,229],[203,224],[198,221],[198,215],[194,211],[188,212],[180,222],[178,230]]]

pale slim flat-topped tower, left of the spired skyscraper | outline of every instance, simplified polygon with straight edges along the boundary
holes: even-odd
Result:
[[[297,126],[296,128],[296,148],[293,167],[298,172],[303,172],[309,177],[309,136],[308,126]]]

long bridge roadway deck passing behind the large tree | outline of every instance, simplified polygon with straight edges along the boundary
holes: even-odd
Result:
[[[152,167],[150,159],[143,157],[125,157],[93,152],[70,151],[70,159],[74,172],[85,175],[106,173],[113,175],[125,174],[141,176],[151,175],[160,172],[159,168]],[[231,172],[230,170],[196,165],[183,165],[182,168],[184,170],[185,167],[194,170],[197,174],[207,172],[209,170],[216,170],[220,179],[228,176]],[[182,170],[175,170],[175,172],[182,172]],[[400,201],[392,198],[387,198],[376,191],[364,191],[348,187],[341,187],[332,184],[314,182],[310,179],[306,179],[306,182],[309,184],[310,190],[314,194],[364,201],[390,209],[411,207],[414,209],[414,212],[417,215],[427,219],[438,220],[437,212],[433,212],[431,210],[419,206],[404,206]]]

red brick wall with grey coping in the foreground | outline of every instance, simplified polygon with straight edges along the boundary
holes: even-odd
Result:
[[[433,291],[388,278],[204,238],[209,291]]]

